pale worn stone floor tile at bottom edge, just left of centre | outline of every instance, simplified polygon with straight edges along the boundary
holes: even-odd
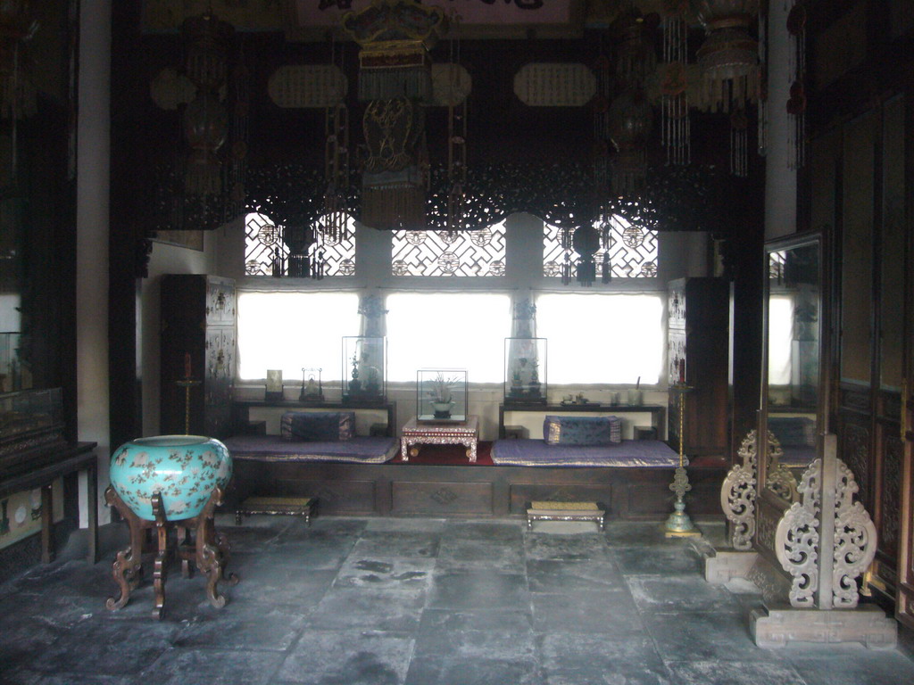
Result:
[[[305,631],[276,680],[303,685],[402,685],[413,638],[377,631]]]

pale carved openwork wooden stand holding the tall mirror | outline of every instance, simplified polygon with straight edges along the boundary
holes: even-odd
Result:
[[[876,526],[860,502],[854,475],[837,458],[837,438],[824,436],[823,457],[803,472],[799,487],[778,461],[781,448],[769,434],[768,489],[790,498],[789,509],[773,509],[756,492],[755,431],[743,440],[721,490],[732,522],[735,550],[706,559],[710,583],[746,578],[758,585],[765,606],[749,614],[759,647],[789,642],[862,642],[869,648],[896,644],[897,625],[877,606],[857,606],[856,578],[876,554]],[[760,505],[766,505],[768,509]],[[771,510],[771,511],[769,511]],[[771,564],[771,556],[780,564]],[[784,574],[786,573],[786,575]]]

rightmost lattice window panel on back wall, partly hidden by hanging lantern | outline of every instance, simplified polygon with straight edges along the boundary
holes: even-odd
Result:
[[[657,278],[657,232],[632,226],[622,216],[613,215],[609,221],[609,245],[604,244],[602,222],[593,225],[600,231],[600,249],[593,256],[600,274],[603,255],[610,254],[610,272],[613,279]],[[576,264],[579,254],[571,249],[571,263]],[[562,229],[543,226],[543,276],[558,277],[562,274],[565,249],[562,248]]]

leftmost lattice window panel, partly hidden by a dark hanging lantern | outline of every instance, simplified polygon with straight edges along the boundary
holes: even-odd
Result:
[[[245,217],[244,271],[248,276],[271,276],[275,268],[285,275],[289,268],[289,246],[284,230],[269,216]],[[339,237],[324,232],[324,219],[317,222],[317,240],[308,246],[308,257],[323,260],[324,276],[352,276],[356,273],[356,227],[350,218]]]

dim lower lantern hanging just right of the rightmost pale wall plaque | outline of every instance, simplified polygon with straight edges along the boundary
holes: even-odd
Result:
[[[647,140],[654,114],[642,90],[625,90],[612,100],[608,113],[612,158],[612,193],[637,195],[647,174]]]

